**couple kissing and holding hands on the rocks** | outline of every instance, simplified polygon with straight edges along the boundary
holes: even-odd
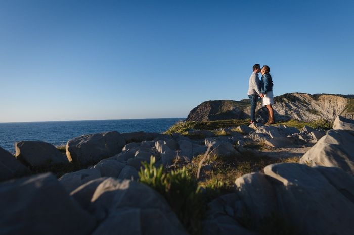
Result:
[[[259,81],[258,73],[262,74],[262,78]],[[262,99],[262,106],[267,107],[268,110],[268,122],[265,125],[274,123],[274,113],[272,104],[273,101],[273,80],[272,76],[269,74],[271,69],[268,65],[263,65],[260,68],[259,64],[255,64],[253,66],[253,73],[249,78],[249,86],[248,86],[248,98],[251,101],[251,124],[255,121],[255,111],[257,106],[257,99],[260,97]]]

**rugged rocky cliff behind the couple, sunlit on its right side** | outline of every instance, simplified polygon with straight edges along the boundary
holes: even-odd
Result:
[[[312,121],[318,119],[334,120],[337,115],[354,119],[353,95],[287,93],[274,98],[273,108],[277,121],[296,119]],[[226,119],[246,119],[250,116],[250,102],[213,100],[205,101],[195,107],[186,121],[213,121]],[[256,120],[268,119],[267,110],[260,100],[256,108]]]

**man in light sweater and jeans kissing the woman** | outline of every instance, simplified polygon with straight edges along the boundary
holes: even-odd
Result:
[[[258,73],[260,72],[260,65],[255,64],[253,66],[253,73],[251,77],[249,77],[249,85],[248,85],[248,98],[251,101],[251,124],[255,122],[255,111],[257,106],[257,99],[258,97],[262,98],[263,94],[260,92],[259,89],[259,76]]]

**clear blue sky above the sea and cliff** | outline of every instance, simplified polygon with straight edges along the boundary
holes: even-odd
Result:
[[[184,117],[274,93],[353,94],[354,1],[0,0],[0,122]]]

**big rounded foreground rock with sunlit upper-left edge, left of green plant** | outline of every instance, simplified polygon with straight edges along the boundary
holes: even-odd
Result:
[[[116,234],[122,223],[128,233],[120,234],[186,234],[165,199],[144,184],[108,178],[91,201],[91,210],[102,221],[93,234]]]

